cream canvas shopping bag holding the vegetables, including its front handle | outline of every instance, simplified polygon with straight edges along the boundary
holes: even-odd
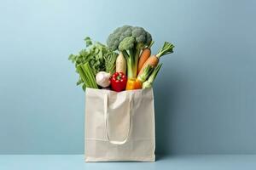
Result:
[[[86,88],[85,161],[154,161],[152,88]]]

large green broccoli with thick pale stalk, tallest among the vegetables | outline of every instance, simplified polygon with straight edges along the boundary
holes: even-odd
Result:
[[[152,41],[151,34],[139,26],[122,26],[108,36],[108,48],[119,50],[127,61],[129,78],[137,77],[137,62],[141,50]]]

